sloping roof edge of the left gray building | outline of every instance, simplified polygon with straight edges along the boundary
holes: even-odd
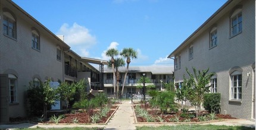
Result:
[[[24,15],[26,15],[27,17],[29,17],[32,21],[35,21],[35,23],[37,23],[39,26],[41,26],[43,29],[45,29],[46,31],[48,31],[49,34],[51,34],[52,36],[55,37],[55,39],[57,39],[58,41],[60,41],[61,43],[63,43],[64,47],[67,47],[67,50],[70,49],[70,46],[67,45],[67,43],[63,42],[63,40],[61,40],[59,37],[57,37],[54,33],[52,33],[48,28],[46,28],[45,26],[43,26],[43,24],[41,24],[38,20],[36,20],[35,18],[32,17],[32,15],[30,15],[29,13],[27,13],[26,11],[24,11],[24,9],[20,8],[17,4],[15,4],[13,1],[8,1],[11,5],[13,5],[15,8],[17,8],[18,10],[20,10]]]

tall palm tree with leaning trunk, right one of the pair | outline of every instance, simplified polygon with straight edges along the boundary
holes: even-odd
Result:
[[[124,58],[126,58],[126,74],[124,75],[124,82],[123,82],[123,87],[122,87],[122,93],[121,95],[123,95],[124,92],[124,84],[126,83],[126,76],[128,73],[128,69],[129,69],[129,64],[130,64],[130,58],[137,58],[138,52],[136,52],[136,50],[132,49],[132,48],[124,48],[122,50],[122,52],[120,53],[121,56],[124,56]]]

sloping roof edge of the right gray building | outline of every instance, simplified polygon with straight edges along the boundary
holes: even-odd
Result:
[[[216,17],[216,15],[218,13],[220,13],[224,8],[227,7],[227,5],[229,5],[233,0],[229,0],[227,1],[224,5],[222,5],[216,12],[214,12],[213,15],[211,15],[210,18],[208,18],[198,29],[196,29],[192,34],[191,36],[189,36],[182,44],[180,44],[180,46],[178,46],[175,50],[173,50],[173,52],[170,53],[170,55],[168,55],[167,58],[171,58],[174,56],[174,53],[180,48],[182,47],[183,45],[185,45],[186,42],[188,42],[189,39],[191,39],[196,33],[198,33],[199,30],[201,30],[202,28],[204,28],[204,26],[206,24],[208,24],[211,20],[213,20],[214,17]]]

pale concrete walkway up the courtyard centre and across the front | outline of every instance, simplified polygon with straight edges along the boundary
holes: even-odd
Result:
[[[255,127],[254,121],[249,121],[246,119],[237,119],[237,120],[224,120],[220,122],[208,122],[208,123],[198,123],[198,125],[227,125],[227,126],[249,126]],[[72,127],[85,127],[85,128],[104,128],[107,130],[133,130],[136,129],[136,126],[161,126],[161,125],[179,125],[175,123],[166,123],[166,124],[154,124],[154,123],[145,123],[145,124],[135,124],[135,117],[133,115],[132,104],[130,102],[124,101],[119,105],[119,108],[114,113],[113,118],[110,119],[107,125],[79,125],[79,124],[51,124],[51,125],[42,125],[42,124],[33,124],[33,123],[20,123],[20,124],[11,124],[11,125],[0,125],[0,129],[20,129],[20,128],[72,128]]]

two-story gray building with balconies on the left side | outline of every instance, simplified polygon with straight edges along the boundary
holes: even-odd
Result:
[[[55,36],[13,1],[0,1],[0,28],[1,123],[27,116],[30,81],[103,80],[101,72],[88,63],[103,68],[107,61],[80,57],[63,37]],[[89,85],[88,90],[91,87],[102,88]]]

